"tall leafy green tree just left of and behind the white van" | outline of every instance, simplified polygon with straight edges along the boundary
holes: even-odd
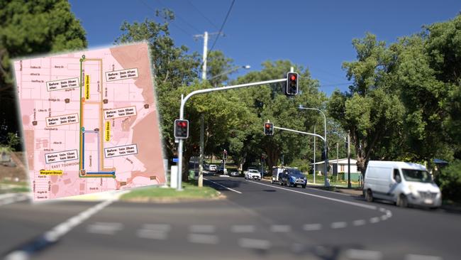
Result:
[[[343,63],[349,92],[333,92],[328,112],[355,143],[357,167],[362,173],[371,158],[393,159],[400,151],[403,136],[404,106],[394,90],[396,58],[386,43],[367,33],[363,39],[352,40],[357,60]]]

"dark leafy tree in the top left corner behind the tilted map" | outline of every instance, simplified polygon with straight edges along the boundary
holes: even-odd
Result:
[[[65,0],[0,1],[0,28],[0,136],[6,136],[19,134],[11,59],[77,50],[87,40]]]

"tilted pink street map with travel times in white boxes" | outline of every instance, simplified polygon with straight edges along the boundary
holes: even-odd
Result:
[[[147,43],[14,68],[34,200],[165,184]]]

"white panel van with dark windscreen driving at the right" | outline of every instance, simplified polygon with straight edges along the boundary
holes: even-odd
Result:
[[[399,207],[440,207],[442,195],[426,167],[418,163],[370,161],[363,186],[365,199],[391,200]]]

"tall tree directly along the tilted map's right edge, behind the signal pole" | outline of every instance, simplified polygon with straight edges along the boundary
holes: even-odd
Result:
[[[172,11],[165,9],[162,12],[157,11],[156,15],[163,19],[162,23],[150,19],[145,19],[142,23],[124,21],[121,25],[122,34],[115,43],[141,40],[149,43],[162,138],[167,157],[172,158],[176,153],[172,122],[179,115],[181,97],[176,90],[184,85],[196,84],[194,81],[199,72],[200,58],[198,53],[188,54],[186,46],[174,45],[168,28],[169,23],[174,20]],[[173,97],[172,94],[177,95]]]

